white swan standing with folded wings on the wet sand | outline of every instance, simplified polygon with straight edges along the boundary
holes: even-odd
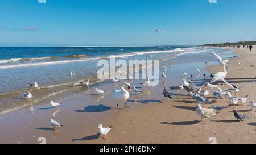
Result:
[[[125,90],[125,84],[128,86],[128,90],[131,91],[131,86],[129,83],[124,82],[121,86],[121,89],[112,91],[112,97],[117,102],[117,109],[119,110],[118,103],[125,102],[125,108],[129,108],[126,106],[126,100],[129,98],[129,92]]]

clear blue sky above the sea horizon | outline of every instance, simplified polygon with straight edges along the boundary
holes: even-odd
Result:
[[[255,0],[2,0],[0,46],[256,40],[255,6]]]

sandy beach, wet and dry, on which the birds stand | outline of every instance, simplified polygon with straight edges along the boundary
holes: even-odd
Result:
[[[255,79],[256,70],[250,67],[256,65],[255,52],[255,49],[253,52],[235,49],[235,53],[241,57],[234,58],[228,65],[226,79],[229,82],[242,86]],[[238,66],[238,62],[241,65]],[[207,70],[216,73],[220,72],[221,67],[210,66]],[[94,95],[92,89],[92,94],[81,94],[75,100],[67,100],[61,108],[50,109],[42,106],[39,107],[42,110],[35,110],[30,115],[23,111],[15,112],[15,115],[1,115],[0,143],[39,143],[39,137],[46,137],[46,143],[209,143],[210,137],[216,137],[217,143],[256,143],[256,110],[250,111],[248,102],[242,106],[228,107],[210,118],[207,125],[203,125],[199,123],[201,118],[194,109],[198,103],[185,95],[184,91],[180,91],[184,95],[175,95],[174,99],[165,99],[162,102],[164,82],[167,87],[177,85],[177,79],[167,78],[161,79],[159,86],[147,89],[142,86],[141,89],[146,91],[141,95],[132,92],[127,102],[131,108],[120,111],[116,109],[111,95],[100,99],[100,95]],[[138,83],[139,81],[133,84],[137,86]],[[255,87],[256,85],[247,87],[237,96],[250,95],[250,99],[256,100]],[[100,86],[98,88],[101,89]],[[221,88],[229,89],[226,85]],[[113,83],[104,86],[104,89],[113,89]],[[95,99],[100,100],[97,103]],[[85,103],[92,105],[82,106]],[[224,98],[214,104],[228,106],[229,103]],[[237,122],[233,109],[250,116],[250,119]],[[53,117],[57,110],[61,112]],[[64,126],[59,131],[52,131],[48,122],[50,118]],[[98,137],[98,124],[113,127],[105,141]]]

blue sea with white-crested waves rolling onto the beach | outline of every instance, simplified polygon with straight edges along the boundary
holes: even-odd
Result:
[[[94,85],[99,86],[110,82],[98,82],[97,62],[101,57],[109,60],[111,55],[117,53],[115,57],[126,61],[150,59],[146,55],[154,54],[154,59],[160,60],[159,68],[162,64],[172,64],[174,69],[168,76],[175,79],[171,81],[173,85],[181,82],[182,78],[179,77],[183,76],[183,70],[195,74],[196,68],[204,66],[207,61],[216,64],[216,57],[212,55],[212,51],[220,54],[222,58],[234,56],[233,51],[229,49],[209,47],[4,48],[1,51],[3,53],[9,49],[13,52],[9,51],[9,55],[1,57],[0,60],[0,114],[23,107],[48,104],[49,100],[63,102],[76,98],[87,89],[84,86],[74,86],[80,79],[86,81],[90,78]],[[15,58],[15,61],[10,61],[11,58]],[[20,58],[26,58],[26,61],[20,61]],[[71,76],[70,72],[76,73],[76,76]],[[159,69],[159,76],[161,74],[162,69]],[[39,88],[28,88],[27,83],[35,81],[38,82]],[[31,91],[33,98],[22,99],[20,93],[23,91]]]

